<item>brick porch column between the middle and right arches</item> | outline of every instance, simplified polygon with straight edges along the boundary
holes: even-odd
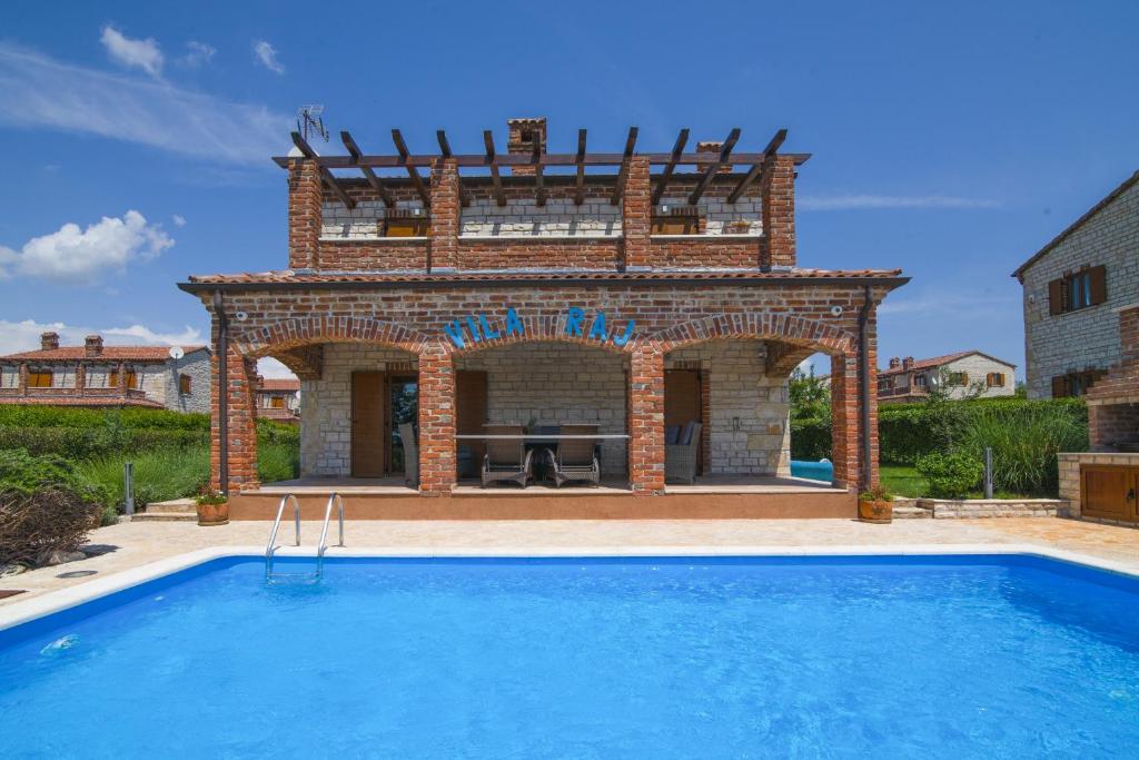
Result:
[[[629,357],[629,484],[638,496],[664,491],[664,354],[654,345]]]

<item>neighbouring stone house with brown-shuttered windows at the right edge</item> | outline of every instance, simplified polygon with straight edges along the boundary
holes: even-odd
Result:
[[[1139,172],[1014,272],[1024,286],[1029,398],[1083,395],[1120,362],[1139,300]]]

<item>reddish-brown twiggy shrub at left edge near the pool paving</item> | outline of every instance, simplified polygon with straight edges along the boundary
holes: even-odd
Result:
[[[54,551],[79,550],[98,514],[97,504],[67,488],[0,488],[0,564],[34,565]]]

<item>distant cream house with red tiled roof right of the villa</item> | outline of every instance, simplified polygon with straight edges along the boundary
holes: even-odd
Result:
[[[878,370],[878,402],[921,401],[939,384],[950,399],[992,398],[1016,392],[1016,365],[980,351],[959,351],[932,359],[906,357]]]

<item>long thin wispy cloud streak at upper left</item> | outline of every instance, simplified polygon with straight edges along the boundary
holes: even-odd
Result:
[[[0,124],[54,128],[214,162],[269,166],[292,117],[0,42]]]

